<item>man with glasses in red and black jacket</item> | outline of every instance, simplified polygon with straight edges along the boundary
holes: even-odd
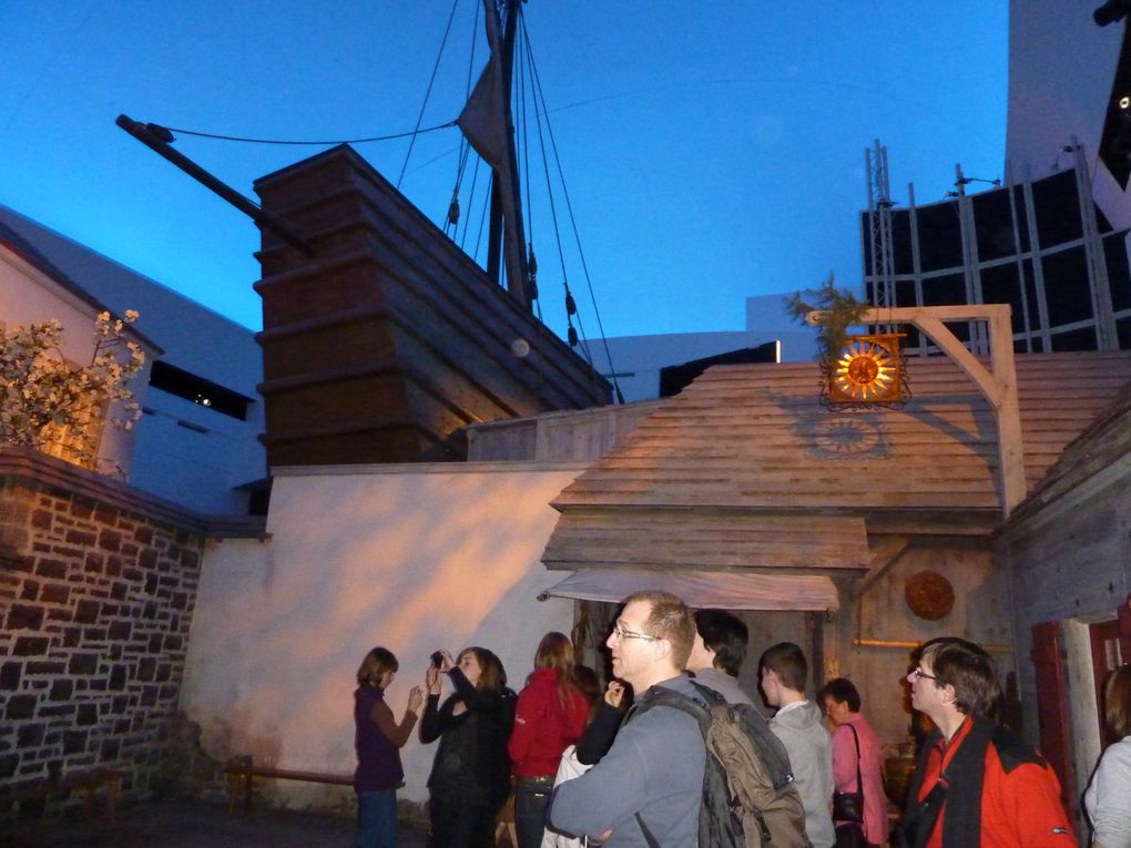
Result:
[[[1060,784],[1030,745],[993,717],[1001,689],[979,646],[926,642],[907,675],[912,707],[935,725],[920,754],[900,825],[906,848],[1074,848]]]

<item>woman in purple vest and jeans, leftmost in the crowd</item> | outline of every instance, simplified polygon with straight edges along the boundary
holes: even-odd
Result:
[[[398,667],[392,651],[374,648],[357,669],[357,691],[354,692],[357,832],[354,848],[394,848],[397,845],[397,787],[405,777],[400,749],[408,741],[424,703],[424,692],[413,686],[408,692],[408,708],[397,724],[385,702],[385,690],[392,683]]]

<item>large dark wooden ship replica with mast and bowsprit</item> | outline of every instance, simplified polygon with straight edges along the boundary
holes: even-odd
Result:
[[[484,0],[491,57],[457,121],[492,172],[486,269],[348,145],[260,178],[256,205],[169,130],[119,118],[259,225],[268,466],[463,460],[468,424],[610,403],[532,308],[509,105],[519,0],[502,7]]]

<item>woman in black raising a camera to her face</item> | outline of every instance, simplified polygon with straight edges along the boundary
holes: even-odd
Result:
[[[465,648],[455,661],[448,651],[438,655],[426,674],[421,719],[421,742],[440,739],[428,779],[432,837],[444,848],[493,848],[495,819],[510,794],[515,693],[486,648]],[[442,704],[441,674],[455,689]]]

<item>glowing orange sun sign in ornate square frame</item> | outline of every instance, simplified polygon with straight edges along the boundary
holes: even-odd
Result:
[[[910,397],[903,334],[848,336],[823,363],[821,401],[830,408],[901,406]]]

